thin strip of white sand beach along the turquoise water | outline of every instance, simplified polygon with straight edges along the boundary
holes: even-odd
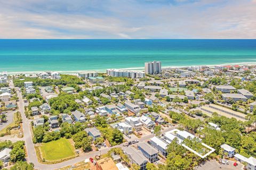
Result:
[[[207,64],[203,64],[203,65],[190,65],[190,66],[163,66],[162,69],[166,69],[166,68],[186,68],[186,67],[200,67],[200,66],[208,66],[210,68],[213,68],[214,66],[227,66],[227,65],[241,65],[241,66],[254,66],[256,65],[256,62],[239,62],[239,63],[223,63],[223,64],[212,64],[212,65],[207,65]],[[108,68],[105,69],[105,71],[102,70],[74,70],[74,71],[54,71],[54,70],[46,70],[46,71],[15,71],[15,72],[8,72],[8,75],[19,75],[19,74],[39,74],[41,72],[59,72],[60,74],[77,74],[78,72],[85,72],[85,71],[96,71],[99,73],[106,73],[106,70]],[[142,71],[144,70],[144,67],[134,67],[134,68],[119,68],[122,70],[138,70],[138,71]],[[5,71],[5,70],[1,70],[1,71]]]

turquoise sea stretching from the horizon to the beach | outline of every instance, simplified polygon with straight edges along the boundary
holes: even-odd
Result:
[[[1,39],[0,71],[106,71],[256,63],[256,39]]]

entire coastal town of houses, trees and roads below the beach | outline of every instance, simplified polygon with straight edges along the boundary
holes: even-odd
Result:
[[[2,71],[1,168],[256,169],[256,66]]]

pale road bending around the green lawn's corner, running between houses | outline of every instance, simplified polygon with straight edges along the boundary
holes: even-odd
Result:
[[[100,154],[100,151],[89,152],[89,153],[86,153],[83,156],[79,156],[79,157],[76,157],[74,159],[70,159],[70,160],[67,160],[67,161],[64,161],[64,162],[58,163],[58,164],[46,165],[46,164],[38,163],[34,143],[32,142],[32,135],[31,135],[31,132],[30,132],[30,127],[29,127],[30,126],[30,120],[28,120],[25,116],[25,111],[24,111],[24,107],[23,107],[24,102],[22,100],[22,96],[21,96],[20,92],[18,92],[18,96],[19,96],[19,110],[21,112],[21,116],[22,116],[22,119],[23,119],[23,126],[22,127],[23,127],[23,132],[24,132],[24,139],[25,139],[25,142],[26,142],[26,149],[27,149],[27,152],[28,152],[27,160],[28,160],[29,163],[33,163],[35,165],[35,169],[42,169],[42,170],[59,169],[59,168],[65,167],[65,166],[73,165],[73,164],[78,163],[80,161],[84,161],[85,159],[88,159],[90,157],[94,157],[94,156]],[[165,128],[162,131],[162,133],[170,131],[171,129],[174,129],[174,128],[175,127]],[[145,135],[145,136],[142,136],[141,138],[139,138],[138,140],[139,140],[139,142],[147,141],[153,136],[154,136],[153,134]],[[123,144],[115,145],[113,148],[118,148],[118,147],[124,148]],[[104,149],[101,150],[101,154],[105,154],[109,150],[110,150],[110,148],[104,148]]]

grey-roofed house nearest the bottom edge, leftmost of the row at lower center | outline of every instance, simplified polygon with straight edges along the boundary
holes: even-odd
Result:
[[[124,153],[131,160],[131,164],[137,164],[140,166],[140,170],[146,170],[148,159],[143,156],[140,150],[135,149],[134,147],[124,148]]]

